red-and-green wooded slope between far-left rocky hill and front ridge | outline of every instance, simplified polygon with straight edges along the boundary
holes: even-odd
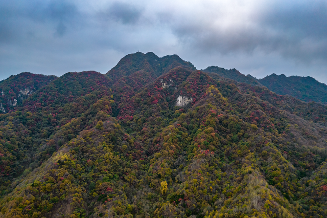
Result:
[[[97,101],[112,101],[111,80],[98,72],[67,73],[32,93],[16,111],[0,116],[0,190],[38,167],[62,144],[92,126]],[[102,107],[96,106],[96,108]],[[105,111],[112,111],[111,107]],[[76,126],[69,123],[80,118]],[[68,128],[68,129],[67,129]],[[63,130],[65,129],[65,130]],[[51,141],[57,133],[64,133]],[[58,135],[58,134],[57,134]]]

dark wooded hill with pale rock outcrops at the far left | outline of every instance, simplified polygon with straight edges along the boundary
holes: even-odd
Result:
[[[24,72],[0,81],[0,113],[9,112],[22,105],[24,99],[56,78]]]

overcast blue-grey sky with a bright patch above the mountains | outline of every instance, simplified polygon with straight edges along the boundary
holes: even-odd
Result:
[[[327,1],[0,1],[0,80],[20,72],[108,72],[137,51],[197,69],[327,83]]]

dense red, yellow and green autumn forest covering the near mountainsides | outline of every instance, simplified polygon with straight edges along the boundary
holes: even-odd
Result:
[[[327,217],[327,106],[266,86],[151,52],[11,76],[0,217]]]

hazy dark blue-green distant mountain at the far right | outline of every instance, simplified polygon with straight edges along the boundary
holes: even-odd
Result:
[[[271,74],[258,81],[279,95],[290,95],[306,102],[327,103],[327,85],[310,76],[287,77],[284,74]]]

